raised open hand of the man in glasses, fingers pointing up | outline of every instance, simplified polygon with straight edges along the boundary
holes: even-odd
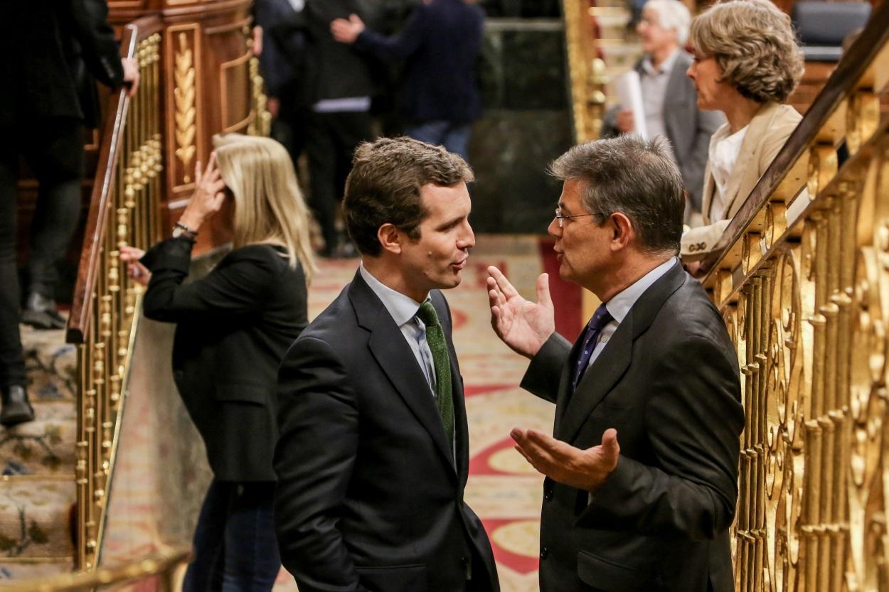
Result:
[[[525,300],[500,269],[488,268],[488,300],[491,326],[497,336],[518,354],[533,357],[556,332],[553,301],[549,297],[549,275],[537,278],[537,302]]]

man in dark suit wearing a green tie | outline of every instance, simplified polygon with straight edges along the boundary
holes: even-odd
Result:
[[[469,441],[451,313],[472,171],[408,138],[357,150],[343,202],[361,267],[278,372],[276,525],[300,592],[494,592],[463,501]]]

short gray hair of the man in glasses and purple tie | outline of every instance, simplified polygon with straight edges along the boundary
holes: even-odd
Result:
[[[628,134],[579,144],[549,170],[558,179],[583,183],[581,203],[599,224],[621,212],[646,252],[679,252],[685,190],[661,136],[643,140]]]

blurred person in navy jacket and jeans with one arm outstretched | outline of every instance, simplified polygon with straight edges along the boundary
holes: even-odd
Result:
[[[356,14],[331,23],[333,38],[386,60],[404,60],[398,113],[404,135],[469,160],[472,122],[482,112],[476,63],[485,13],[464,0],[417,4],[396,36],[382,36]]]

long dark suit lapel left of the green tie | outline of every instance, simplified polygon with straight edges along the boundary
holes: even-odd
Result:
[[[404,334],[360,273],[356,274],[349,287],[349,299],[355,308],[358,324],[371,332],[367,343],[371,355],[386,373],[398,396],[404,399],[404,404],[453,467],[451,443],[447,441],[445,428],[438,416],[435,397],[416,363],[411,347],[404,340]]]

